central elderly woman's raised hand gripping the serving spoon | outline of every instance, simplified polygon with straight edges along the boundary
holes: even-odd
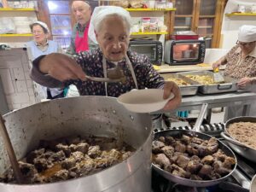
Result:
[[[46,55],[39,63],[39,70],[61,82],[68,79],[85,80],[85,73],[71,57],[53,53]]]

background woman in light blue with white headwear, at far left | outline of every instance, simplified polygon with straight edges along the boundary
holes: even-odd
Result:
[[[49,27],[41,21],[36,21],[30,25],[33,40],[26,43],[26,47],[31,51],[32,61],[40,55],[48,55],[50,53],[61,53],[61,48],[52,40],[49,40]],[[42,91],[41,99],[55,99],[64,97],[64,89],[47,88],[39,85]]]

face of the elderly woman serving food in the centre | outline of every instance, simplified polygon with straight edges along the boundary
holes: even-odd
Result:
[[[125,20],[117,15],[102,20],[102,26],[96,32],[96,40],[108,61],[121,61],[129,44],[129,32]]]

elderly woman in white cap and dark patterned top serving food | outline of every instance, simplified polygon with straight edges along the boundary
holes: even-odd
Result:
[[[84,51],[73,58],[50,54],[33,61],[31,77],[45,86],[75,84],[81,96],[117,97],[132,89],[164,89],[164,98],[175,95],[165,109],[174,109],[181,102],[177,84],[165,82],[154,70],[145,55],[128,50],[131,16],[128,11],[115,6],[97,7],[91,17],[90,30],[96,34],[98,49]],[[106,71],[118,65],[126,81],[102,83],[85,78],[85,74],[108,78]]]

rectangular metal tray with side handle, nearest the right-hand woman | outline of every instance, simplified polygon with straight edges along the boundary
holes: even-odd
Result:
[[[195,72],[183,72],[178,73],[182,76],[185,75],[209,75],[213,78],[213,73],[209,71],[195,71]],[[187,79],[187,77],[183,77]],[[189,78],[188,78],[189,79]],[[200,84],[199,82],[197,82]],[[237,80],[232,79],[230,77],[224,76],[224,84],[200,84],[198,91],[202,94],[212,94],[212,93],[224,93],[224,92],[232,92],[236,91],[237,88]]]

